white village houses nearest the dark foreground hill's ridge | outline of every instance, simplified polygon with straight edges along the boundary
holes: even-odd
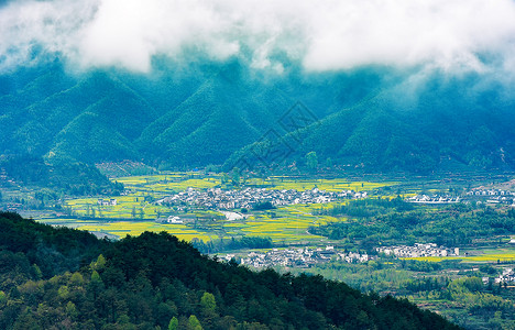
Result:
[[[233,255],[227,255],[231,258]],[[241,258],[241,264],[250,265],[255,268],[285,266],[285,267],[311,267],[318,263],[326,263],[330,260],[341,260],[348,263],[363,263],[372,258],[368,254],[355,252],[343,252],[335,250],[335,246],[308,249],[273,249],[266,253],[251,252],[246,257]]]

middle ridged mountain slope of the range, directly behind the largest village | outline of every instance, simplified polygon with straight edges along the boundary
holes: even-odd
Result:
[[[221,164],[273,124],[275,109],[291,101],[274,88],[242,81],[221,72],[188,99],[150,124],[139,148],[167,166]],[[146,152],[149,151],[149,152]]]

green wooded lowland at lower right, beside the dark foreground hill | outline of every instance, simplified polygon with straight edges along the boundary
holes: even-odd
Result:
[[[390,258],[359,264],[330,261],[294,272],[321,274],[364,292],[407,297],[470,329],[515,327],[513,290],[504,284],[494,283],[492,275],[497,273],[495,267],[482,265],[479,271],[472,271],[472,267],[474,265],[458,261],[436,263]],[[456,278],[448,272],[440,272],[442,268],[460,270],[461,276]],[[484,284],[482,277],[486,276],[490,279]]]

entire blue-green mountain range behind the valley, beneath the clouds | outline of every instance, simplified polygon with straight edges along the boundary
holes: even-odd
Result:
[[[272,130],[296,139],[276,160],[285,165],[302,166],[314,151],[321,165],[368,172],[515,166],[515,102],[503,87],[474,74],[408,77],[379,68],[278,77],[238,62],[183,70],[158,64],[145,76],[74,74],[59,63],[21,68],[0,76],[0,153],[188,168],[270,147],[262,136]],[[317,120],[284,130],[281,119],[297,102]]]

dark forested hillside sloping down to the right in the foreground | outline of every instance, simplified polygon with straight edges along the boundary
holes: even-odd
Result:
[[[458,329],[321,276],[254,273],[167,233],[118,242],[0,213],[2,329]]]

